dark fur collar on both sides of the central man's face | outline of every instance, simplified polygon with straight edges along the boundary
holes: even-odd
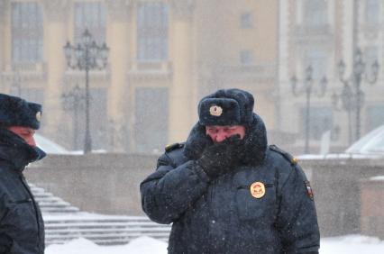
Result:
[[[253,113],[253,120],[249,125],[245,126],[246,133],[242,148],[243,164],[255,166],[261,164],[265,158],[268,141],[267,131],[261,117]],[[195,124],[189,133],[185,147],[184,155],[187,159],[198,159],[206,146],[212,145],[213,142],[206,135],[206,127],[199,122]]]

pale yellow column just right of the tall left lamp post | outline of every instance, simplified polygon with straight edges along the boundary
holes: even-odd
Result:
[[[131,52],[129,40],[132,30],[130,0],[110,0],[105,1],[108,8],[108,26],[106,32],[107,45],[110,48],[109,65],[111,69],[111,86],[108,89],[108,117],[113,122],[111,128],[112,144],[114,151],[123,151],[126,137],[129,133],[123,132],[129,123],[127,113],[130,111],[129,103],[129,84],[127,73],[129,69],[129,59]]]

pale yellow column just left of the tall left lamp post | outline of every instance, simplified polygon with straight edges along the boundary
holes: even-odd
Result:
[[[44,91],[43,131],[56,141],[65,139],[61,132],[66,124],[62,122],[61,94],[63,75],[67,62],[63,47],[69,39],[66,34],[69,16],[68,0],[43,0],[44,12],[44,60],[47,68],[47,84]],[[61,133],[61,135],[60,135]]]

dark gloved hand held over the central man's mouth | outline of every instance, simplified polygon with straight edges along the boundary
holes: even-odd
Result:
[[[197,164],[203,168],[210,178],[224,175],[231,171],[239,161],[241,145],[240,135],[233,135],[220,143],[208,146],[201,158],[197,159]]]

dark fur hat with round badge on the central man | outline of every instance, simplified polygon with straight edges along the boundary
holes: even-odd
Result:
[[[202,125],[248,125],[253,120],[253,96],[241,89],[221,89],[198,104]]]

